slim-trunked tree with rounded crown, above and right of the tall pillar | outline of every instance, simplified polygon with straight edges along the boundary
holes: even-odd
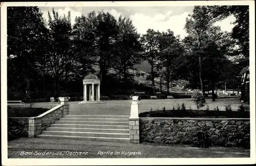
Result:
[[[161,33],[156,32],[152,29],[148,29],[146,34],[142,35],[140,41],[143,47],[143,58],[144,60],[148,61],[151,65],[151,81],[152,81],[152,88],[153,93],[155,93],[155,67],[156,62],[160,60],[160,53],[159,53],[159,38]]]

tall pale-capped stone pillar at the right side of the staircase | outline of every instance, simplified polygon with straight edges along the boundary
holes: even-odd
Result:
[[[129,133],[130,143],[140,143],[140,129],[139,129],[139,105],[137,96],[132,97],[131,114],[129,117]]]

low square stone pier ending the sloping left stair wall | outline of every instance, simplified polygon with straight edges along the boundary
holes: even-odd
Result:
[[[36,137],[41,134],[42,119],[41,117],[29,117],[29,137]]]

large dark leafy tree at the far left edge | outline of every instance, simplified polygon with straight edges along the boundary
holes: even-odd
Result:
[[[44,54],[41,36],[45,30],[38,7],[7,8],[7,74],[10,91],[19,89],[29,94],[35,91],[35,81],[39,75],[36,62],[38,56]]]

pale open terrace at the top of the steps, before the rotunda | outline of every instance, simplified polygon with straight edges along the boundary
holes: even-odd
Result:
[[[131,100],[115,100],[105,101],[105,104],[78,104],[78,102],[68,102],[70,104],[70,114],[98,114],[98,115],[130,115]],[[211,110],[217,106],[220,110],[225,110],[225,105],[231,104],[232,110],[237,111],[238,106],[241,105],[240,98],[225,98],[217,99],[216,102],[211,102],[211,99],[206,99]],[[139,101],[139,111],[147,112],[152,110],[161,110],[165,107],[166,110],[172,110],[173,106],[177,109],[177,104],[181,106],[184,103],[186,109],[196,109],[196,105],[190,99],[161,99],[161,100],[141,100]],[[53,108],[58,104],[50,103],[34,103],[32,107]],[[201,109],[205,109],[203,107]]]

